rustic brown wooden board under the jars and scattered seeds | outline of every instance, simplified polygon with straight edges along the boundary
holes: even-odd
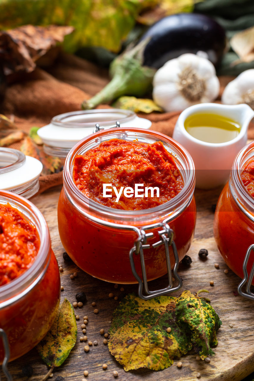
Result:
[[[74,264],[68,264],[63,261],[63,247],[58,235],[56,217],[59,191],[60,187],[55,188],[42,195],[33,197],[31,201],[37,205],[47,220],[53,250],[58,259],[59,266],[63,266],[64,269],[61,273],[61,284],[64,286],[61,299],[66,296],[73,303],[76,293],[84,291],[87,296],[87,303],[82,308],[76,309],[76,314],[79,314],[81,317],[77,322],[77,343],[64,364],[54,370],[52,380],[55,380],[57,376],[62,376],[64,381],[81,381],[84,378],[84,370],[88,370],[88,381],[107,381],[114,379],[113,370],[117,370],[119,374],[117,379],[119,381],[162,381],[166,379],[196,381],[198,372],[201,373],[200,379],[205,381],[238,381],[254,371],[254,302],[236,295],[235,291],[239,278],[231,271],[228,274],[223,272],[227,266],[217,251],[212,234],[214,213],[211,206],[216,203],[220,189],[195,191],[198,217],[195,239],[188,253],[193,262],[187,269],[181,265],[179,268],[180,276],[183,279],[182,290],[195,292],[202,288],[209,289],[209,298],[211,299],[212,306],[214,306],[215,311],[222,320],[222,327],[217,333],[219,344],[214,349],[215,356],[212,357],[210,363],[206,363],[202,360],[196,360],[196,354],[190,352],[181,358],[183,363],[181,369],[177,368],[175,362],[174,365],[163,371],[155,372],[141,369],[127,373],[116,362],[114,357],[111,356],[107,346],[103,344],[103,336],[100,335],[99,331],[100,328],[104,328],[105,332],[108,331],[113,310],[119,303],[119,300],[126,293],[137,290],[137,286],[124,285],[124,292],[121,292],[120,286],[115,289],[113,284],[97,280],[77,269]],[[198,257],[198,251],[201,248],[206,248],[209,251],[206,261],[202,261]],[[219,269],[215,269],[215,262],[219,263]],[[78,272],[78,276],[74,280],[71,280],[69,275],[74,271]],[[214,281],[213,287],[209,284],[210,280]],[[166,279],[164,277],[164,279],[155,280],[151,283],[162,286],[166,284]],[[115,301],[109,298],[108,294],[110,292],[118,296],[119,300]],[[176,293],[176,295],[179,294],[180,291]],[[99,309],[98,315],[93,313],[94,307],[91,305],[93,301],[96,302],[96,308]],[[98,345],[90,347],[90,352],[88,353],[84,352],[84,343],[79,341],[79,337],[83,336],[80,326],[83,323],[83,316],[85,315],[89,317],[86,333],[88,339],[92,341],[98,340]],[[229,327],[231,323],[233,328]],[[108,364],[107,370],[102,369],[103,363]],[[24,376],[27,365],[30,365],[33,369],[33,375],[29,378]],[[13,375],[14,381],[39,381],[47,373],[48,368],[40,360],[36,349],[33,349],[20,359],[10,363],[9,370]],[[5,380],[3,375],[2,379]]]

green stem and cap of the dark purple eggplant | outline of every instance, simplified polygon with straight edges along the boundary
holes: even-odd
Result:
[[[141,97],[151,88],[156,69],[142,66],[143,50],[147,41],[143,40],[134,48],[127,49],[111,62],[111,82],[93,98],[84,101],[82,109],[93,109],[98,104],[109,103],[122,95]]]

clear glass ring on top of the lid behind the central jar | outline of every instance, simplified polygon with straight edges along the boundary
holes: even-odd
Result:
[[[104,115],[105,117],[107,117],[108,114],[122,115],[122,117],[119,117],[119,115],[117,115],[117,117],[112,118],[110,120],[100,120],[101,126],[111,126],[116,124],[116,121],[119,121],[120,123],[129,122],[137,116],[135,112],[124,109],[94,109],[81,111],[79,110],[56,115],[51,119],[51,123],[55,126],[66,128],[84,128],[91,126],[95,127],[95,124],[98,123],[98,114]],[[78,119],[66,121],[66,119],[75,118],[82,115],[88,115],[90,118],[93,118],[94,120],[90,122],[79,122]]]

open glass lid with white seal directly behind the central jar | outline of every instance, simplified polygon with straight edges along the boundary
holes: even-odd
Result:
[[[38,130],[44,152],[51,156],[66,157],[81,139],[93,133],[95,125],[108,129],[120,123],[123,127],[149,128],[151,121],[135,112],[122,109],[95,109],[66,112],[52,118],[50,124]]]

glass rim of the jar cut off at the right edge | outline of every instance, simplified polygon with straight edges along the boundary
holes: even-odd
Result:
[[[241,211],[254,221],[254,199],[244,187],[241,173],[246,163],[254,159],[254,141],[244,146],[236,155],[230,173],[229,189]]]

